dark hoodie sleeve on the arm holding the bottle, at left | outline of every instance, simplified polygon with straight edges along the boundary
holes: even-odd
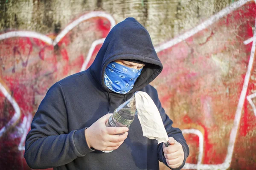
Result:
[[[58,167],[93,151],[85,139],[86,127],[69,132],[67,124],[65,95],[57,82],[39,105],[26,136],[24,157],[29,167]]]

